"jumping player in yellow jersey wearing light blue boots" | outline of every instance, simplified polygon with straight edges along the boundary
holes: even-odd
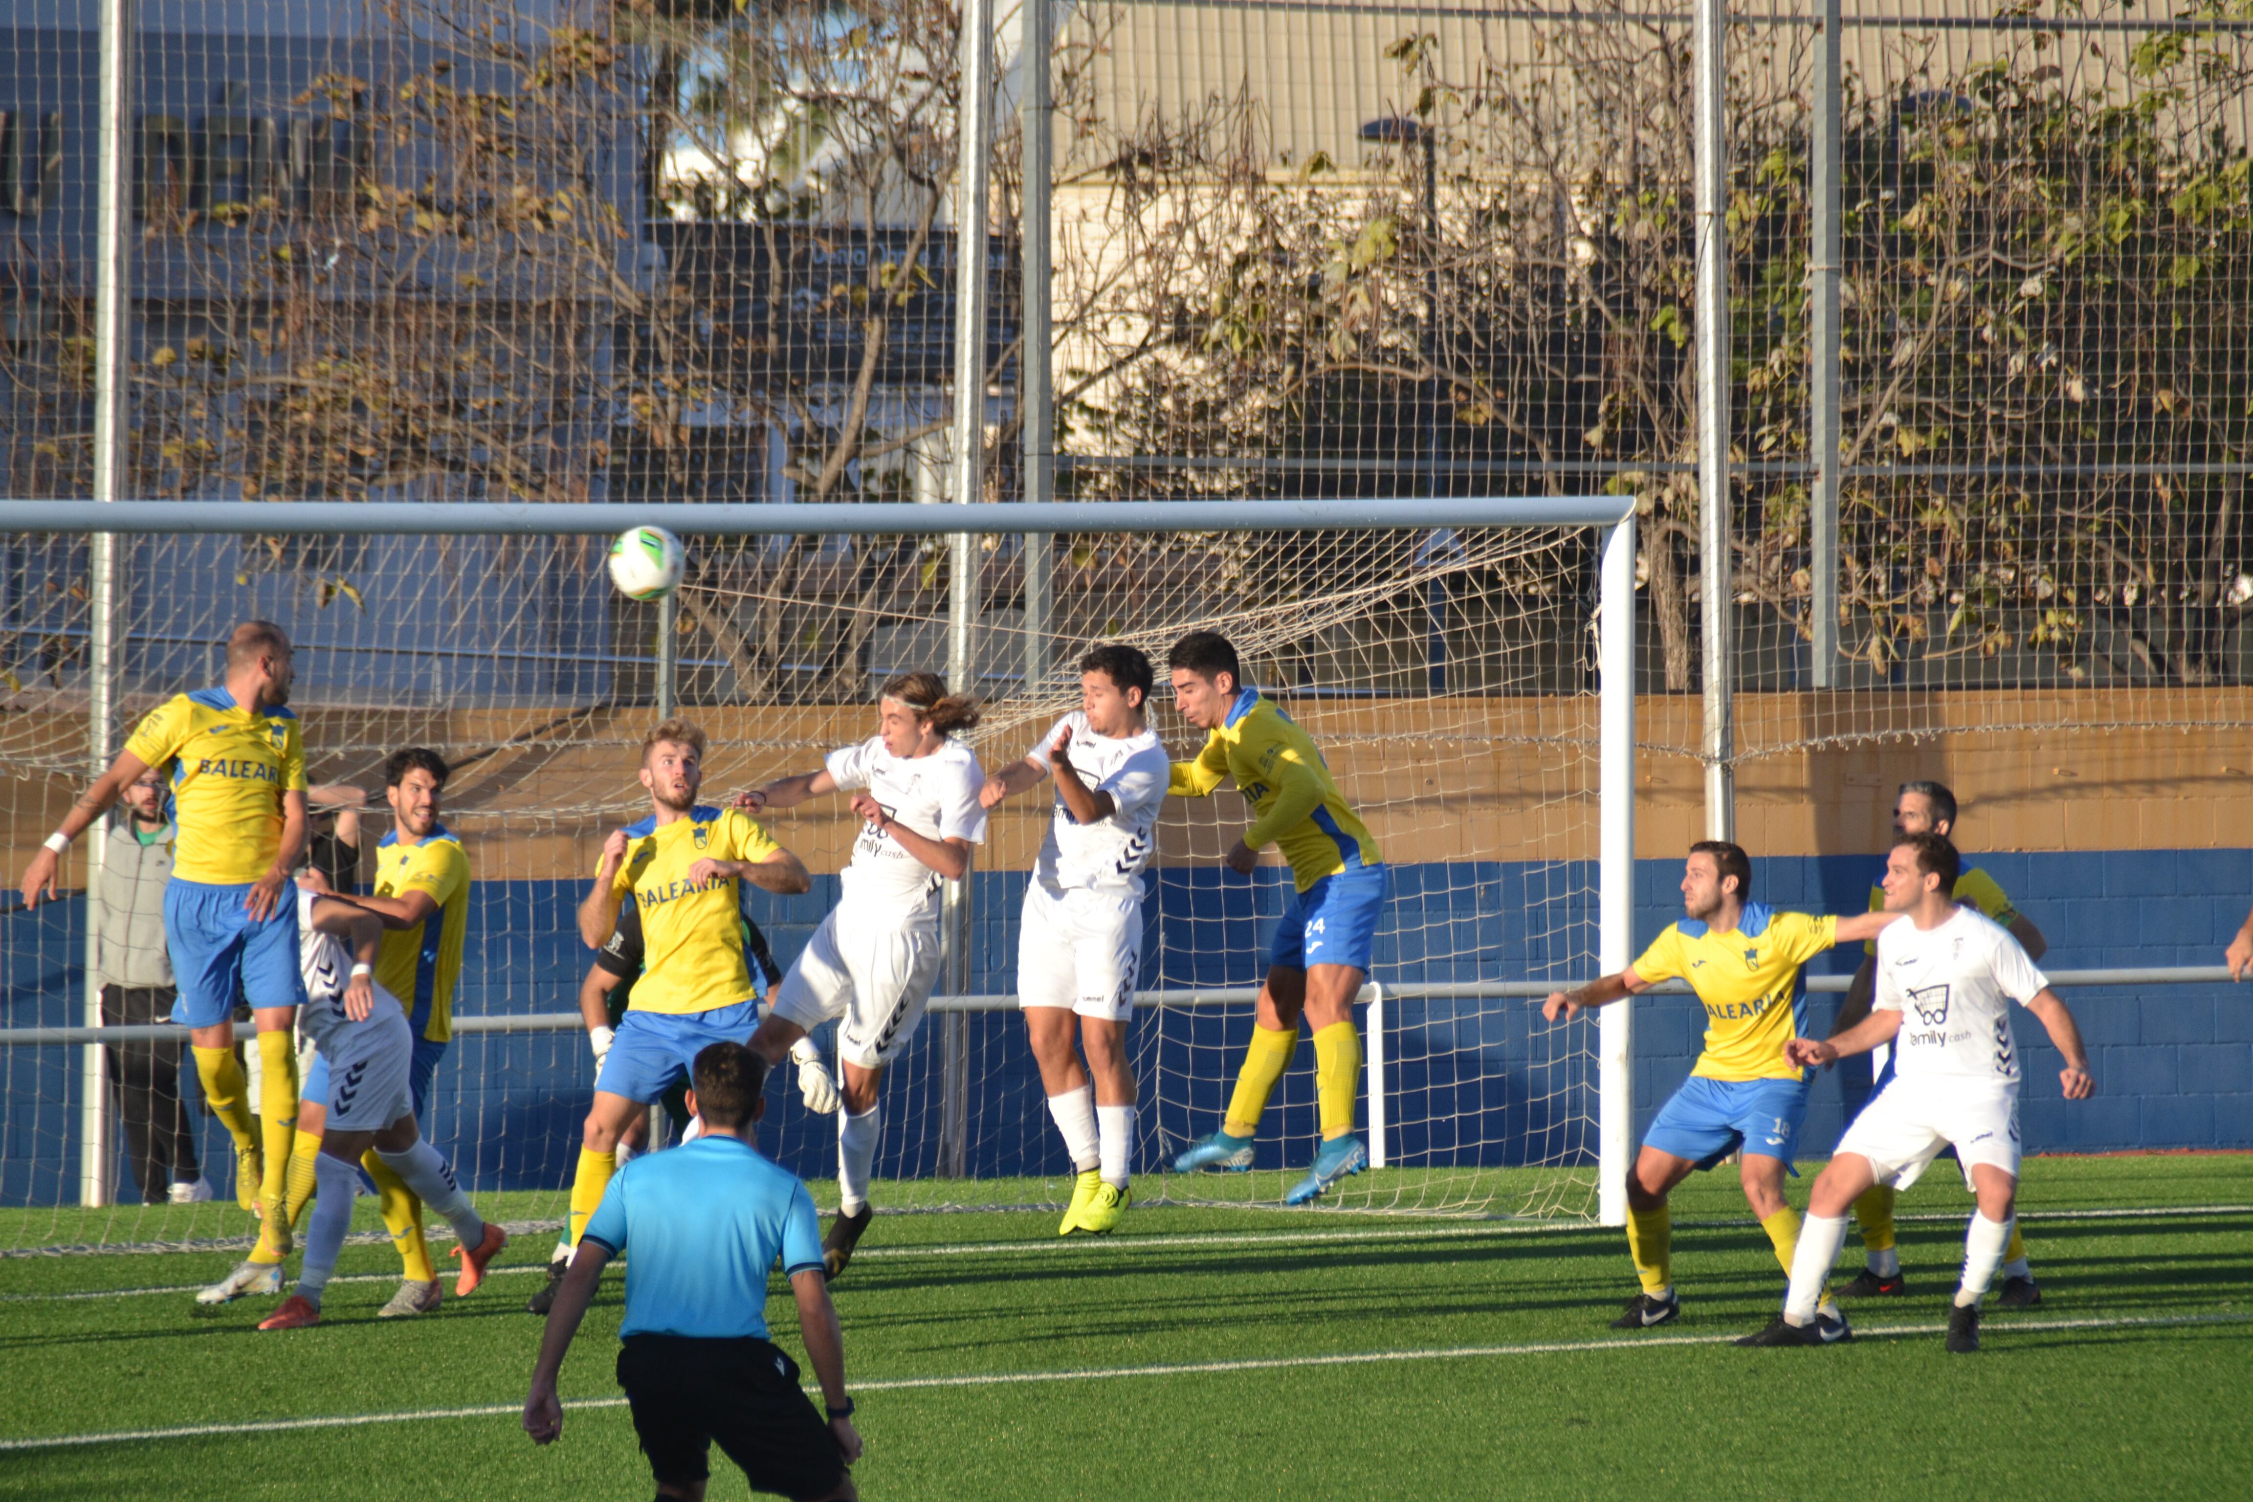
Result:
[[[1253,1133],[1275,1081],[1291,1067],[1304,1013],[1313,1027],[1323,1146],[1307,1178],[1284,1196],[1286,1205],[1304,1205],[1370,1162],[1354,1135],[1354,1097],[1361,1090],[1354,998],[1370,975],[1388,871],[1377,840],[1338,793],[1313,739],[1259,689],[1244,685],[1237,649],[1226,637],[1192,631],[1174,642],[1167,669],[1181,718],[1208,732],[1196,761],[1174,763],[1167,790],[1205,797],[1221,779],[1235,779],[1257,817],[1228,851],[1228,869],[1250,876],[1259,851],[1275,844],[1291,862],[1295,887],[1268,946],[1259,1016],[1228,1115],[1221,1130],[1174,1157],[1174,1171],[1241,1173],[1253,1166]]]

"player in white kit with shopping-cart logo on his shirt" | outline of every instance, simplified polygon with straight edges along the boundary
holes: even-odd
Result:
[[[2019,1198],[2019,1040],[2010,1004],[2041,1018],[2066,1056],[2068,1101],[2095,1092],[2073,1013],[1994,919],[1958,908],[1962,860],[1944,835],[1915,833],[1886,856],[1886,912],[1908,914],[1877,937],[1877,1000],[1863,1022],[1820,1043],[1793,1038],[1784,1058],[1811,1070],[1841,1054],[1893,1045],[1893,1081],[1877,1092],[1807,1193],[1784,1313],[1739,1344],[1820,1344],[1816,1297],[1829,1279],[1847,1209],[1870,1184],[1908,1189],[1953,1146],[1978,1212],[1965,1232],[1965,1272],[1949,1311],[1949,1351],[1978,1351],[1978,1302],[2010,1245]]]

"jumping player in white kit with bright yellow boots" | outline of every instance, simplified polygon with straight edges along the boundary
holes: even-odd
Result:
[[[1136,1085],[1126,1020],[1142,968],[1142,869],[1174,775],[1142,712],[1154,680],[1149,658],[1133,646],[1093,649],[1079,660],[1079,709],[978,795],[991,808],[1043,777],[1057,779],[1057,815],[1025,885],[1016,1000],[1048,1112],[1079,1175],[1059,1236],[1102,1236],[1131,1200]],[[1086,1067],[1072,1047],[1075,1013]]]

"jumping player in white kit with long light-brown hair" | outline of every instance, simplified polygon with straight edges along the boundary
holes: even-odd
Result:
[[[838,1218],[822,1236],[829,1277],[852,1261],[867,1230],[867,1182],[883,1117],[876,1085],[915,1038],[930,986],[940,977],[940,883],[969,880],[971,847],[985,840],[978,788],[985,772],[969,745],[978,709],[946,694],[937,673],[901,673],[876,696],[879,730],[858,745],[829,752],[818,772],[766,784],[737,806],[795,808],[825,793],[852,793],[861,835],[845,867],[843,896],[782,977],[782,995],[750,1036],[766,1063],[798,1058],[798,1088],[813,1110],[838,1115]],[[838,1025],[845,1088],[829,1083],[820,1049],[807,1036]]]

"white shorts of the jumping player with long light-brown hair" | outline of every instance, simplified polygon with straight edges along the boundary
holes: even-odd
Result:
[[[908,1049],[924,1020],[930,986],[940,980],[940,926],[935,917],[870,921],[854,917],[847,903],[831,908],[798,953],[798,964],[782,977],[773,1016],[807,1031],[845,1018],[838,1025],[838,1058],[876,1070]]]

